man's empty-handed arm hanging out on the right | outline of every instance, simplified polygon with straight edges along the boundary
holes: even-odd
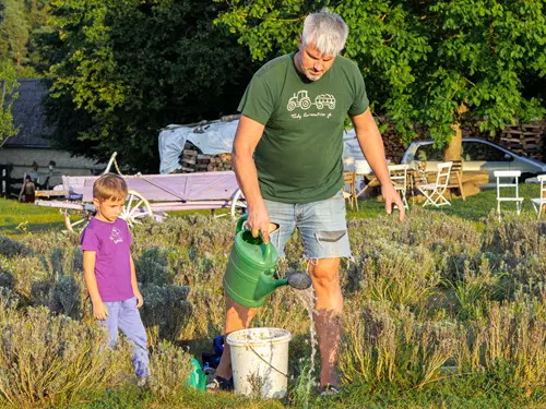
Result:
[[[405,207],[389,177],[383,140],[381,139],[381,134],[371,116],[370,109],[366,109],[366,111],[360,115],[352,116],[351,119],[355,127],[358,145],[360,145],[360,149],[366,160],[373,170],[373,175],[376,175],[376,178],[378,178],[381,183],[381,193],[383,195],[387,213],[390,215],[392,213],[392,206],[396,205],[400,210],[399,220],[402,221],[405,217]]]

